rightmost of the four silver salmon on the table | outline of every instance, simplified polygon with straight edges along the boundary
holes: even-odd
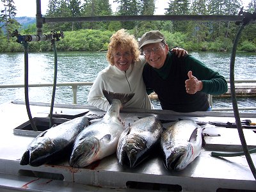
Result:
[[[200,154],[202,127],[193,120],[180,120],[162,133],[160,143],[166,168],[183,170]]]

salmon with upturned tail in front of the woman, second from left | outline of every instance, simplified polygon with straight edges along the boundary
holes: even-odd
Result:
[[[69,161],[70,166],[84,167],[116,152],[118,138],[124,131],[120,108],[134,93],[112,93],[105,90],[103,93],[110,107],[102,120],[86,127],[77,136]]]

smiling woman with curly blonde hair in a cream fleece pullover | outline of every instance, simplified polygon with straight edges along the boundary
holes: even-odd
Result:
[[[177,54],[184,51],[177,49]],[[125,29],[120,29],[110,38],[107,59],[109,66],[99,72],[90,93],[88,103],[107,111],[109,102],[102,90],[116,93],[135,93],[123,108],[153,109],[143,82],[142,72],[146,63],[140,55],[138,42]]]

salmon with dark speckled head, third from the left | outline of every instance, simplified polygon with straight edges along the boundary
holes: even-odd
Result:
[[[147,116],[129,125],[118,141],[118,163],[134,168],[148,157],[159,142],[162,124],[154,116]]]

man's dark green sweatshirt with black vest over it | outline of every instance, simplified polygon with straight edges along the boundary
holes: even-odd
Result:
[[[203,83],[203,89],[193,95],[186,93],[185,88],[189,70]],[[143,80],[147,88],[157,93],[162,109],[178,112],[207,111],[207,94],[220,95],[228,90],[227,81],[218,72],[190,55],[177,58],[173,52],[168,53],[162,68],[146,63]]]

